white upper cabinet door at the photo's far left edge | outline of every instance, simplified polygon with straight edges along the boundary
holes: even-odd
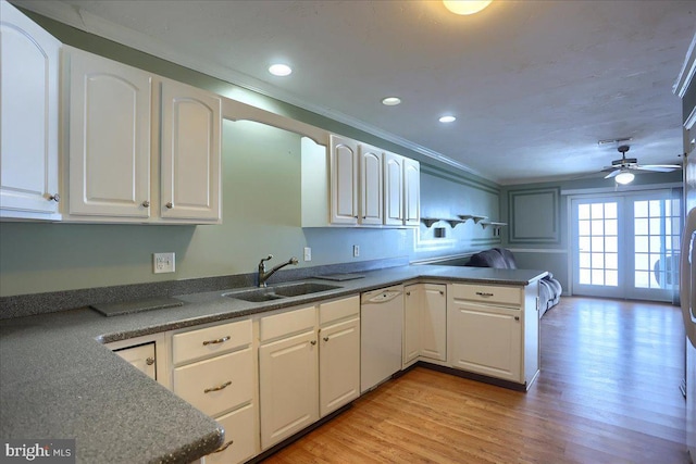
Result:
[[[0,2],[0,216],[55,220],[61,43]]]

